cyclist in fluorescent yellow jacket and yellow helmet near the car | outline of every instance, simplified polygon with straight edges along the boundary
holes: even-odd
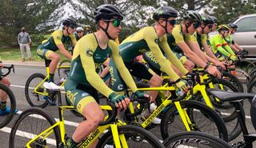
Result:
[[[215,56],[218,58],[225,56],[226,58],[230,58],[232,61],[235,61],[237,57],[225,41],[225,38],[230,34],[230,27],[227,25],[220,25],[217,30],[218,34],[214,35],[213,38],[210,39],[210,44]]]

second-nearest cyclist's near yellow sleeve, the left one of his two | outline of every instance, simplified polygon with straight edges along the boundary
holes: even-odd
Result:
[[[177,74],[174,74],[174,70],[170,68],[170,64],[168,64],[167,59],[163,56],[162,51],[158,45],[160,40],[155,32],[152,34],[153,31],[145,31],[143,37],[150,50],[152,51],[154,58],[158,61],[160,70],[168,74],[174,81],[176,81],[179,77]]]

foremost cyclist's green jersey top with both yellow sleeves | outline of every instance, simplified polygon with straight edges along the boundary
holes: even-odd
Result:
[[[126,78],[126,84],[130,86],[132,90],[136,90],[137,87],[122,62],[117,43],[113,40],[109,40],[106,49],[102,49],[98,46],[98,41],[94,34],[87,34],[80,38],[74,47],[67,83],[72,82],[77,85],[92,86],[98,90],[98,92],[108,97],[114,91],[102,81],[102,78],[98,75],[98,70],[103,62],[110,57],[114,59],[114,63],[120,71],[122,78]],[[68,85],[69,84],[65,84],[65,86]]]

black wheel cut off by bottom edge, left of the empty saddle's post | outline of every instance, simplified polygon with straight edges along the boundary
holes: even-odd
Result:
[[[174,147],[212,147],[212,148],[232,148],[227,142],[222,139],[215,138],[210,134],[203,132],[182,132],[178,134],[172,134],[169,138],[166,138],[162,142],[166,148]]]

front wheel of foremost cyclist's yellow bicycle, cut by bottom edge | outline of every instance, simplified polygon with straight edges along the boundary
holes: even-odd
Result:
[[[142,127],[132,125],[118,126],[118,134],[124,134],[128,147],[165,147],[154,134],[151,134]],[[114,146],[114,138],[110,130],[102,135],[96,147],[104,148],[107,146]]]

